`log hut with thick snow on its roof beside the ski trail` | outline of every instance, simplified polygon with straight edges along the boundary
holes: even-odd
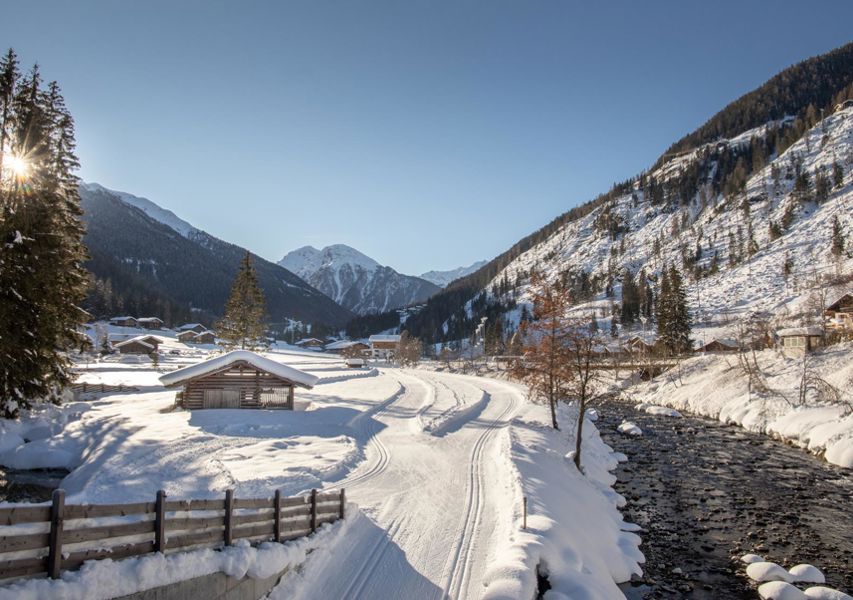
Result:
[[[283,408],[293,410],[296,387],[311,389],[317,377],[248,350],[234,350],[160,377],[180,387],[186,409]]]

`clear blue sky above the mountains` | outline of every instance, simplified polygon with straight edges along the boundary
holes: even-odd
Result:
[[[594,5],[594,6],[593,6]],[[492,258],[651,164],[853,3],[3,0],[60,82],[81,176],[272,260]]]

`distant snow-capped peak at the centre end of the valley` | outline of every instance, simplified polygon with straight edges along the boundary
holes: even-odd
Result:
[[[278,264],[357,314],[423,302],[440,289],[425,279],[382,266],[343,244],[322,250],[304,246],[289,252]]]

